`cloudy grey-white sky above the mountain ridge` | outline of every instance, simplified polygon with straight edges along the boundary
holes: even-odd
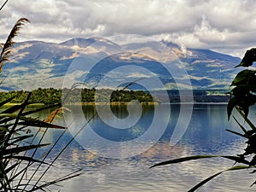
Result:
[[[255,0],[9,0],[0,11],[1,42],[21,17],[31,23],[18,42],[137,34],[239,57],[256,47]]]

